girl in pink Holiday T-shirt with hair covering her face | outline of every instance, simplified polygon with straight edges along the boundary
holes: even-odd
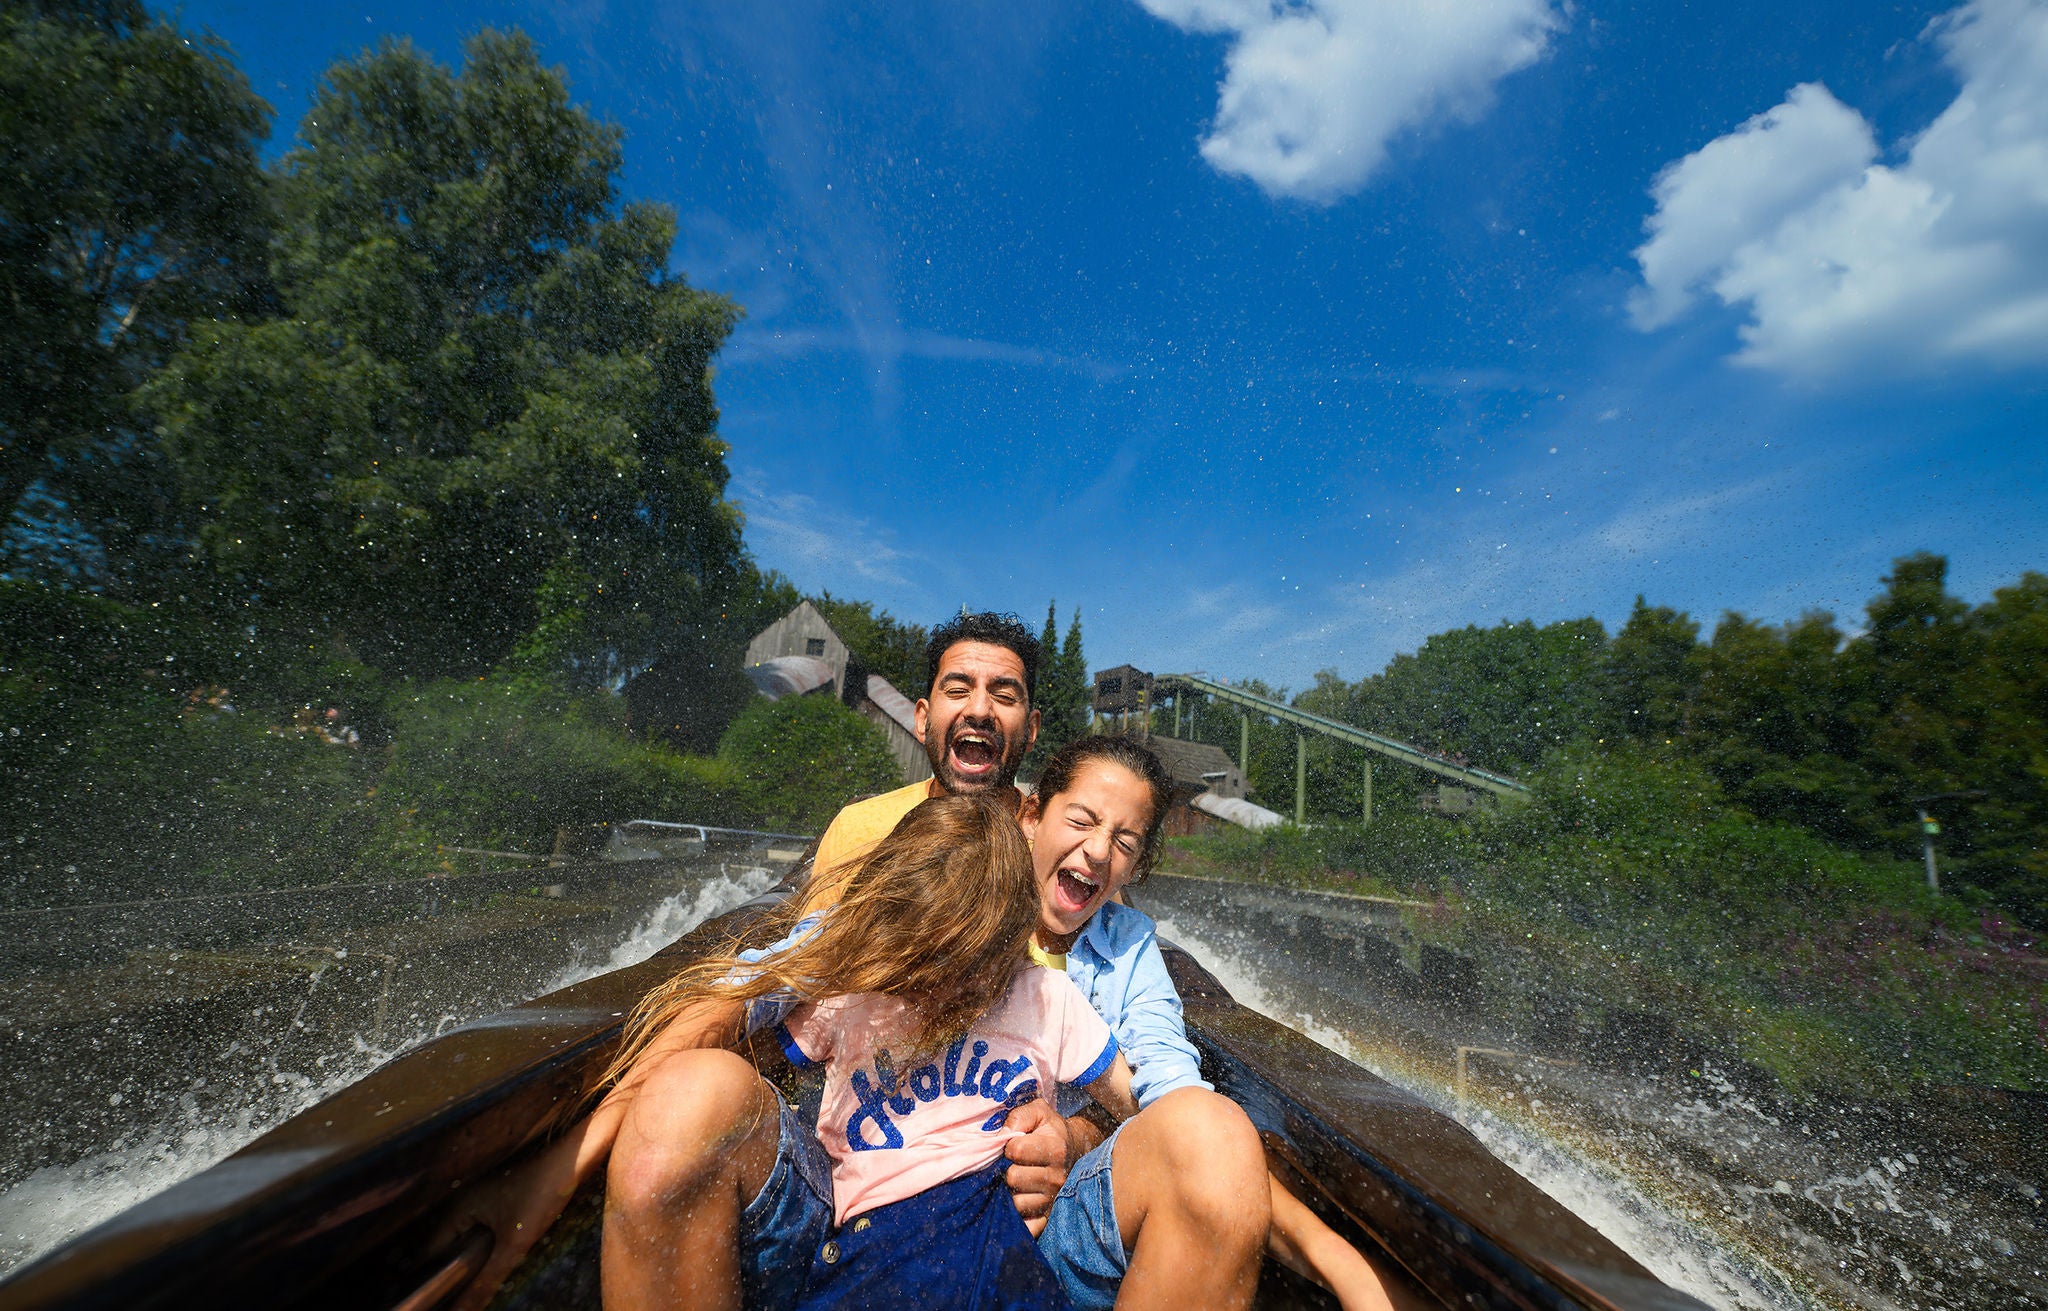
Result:
[[[791,946],[700,961],[635,1010],[612,1077],[631,1077],[653,1034],[705,1000],[756,1012],[795,1002],[774,1032],[795,1065],[823,1067],[807,1143],[788,1141],[791,1110],[756,1075],[762,1114],[750,1137],[795,1168],[743,1192],[766,1198],[750,1217],[766,1223],[737,1235],[750,1301],[844,1305],[915,1288],[924,1307],[1065,1305],[1001,1184],[1004,1143],[1016,1135],[1006,1118],[1059,1084],[1085,1086],[1118,1118],[1137,1102],[1108,1024],[1063,973],[1026,955],[1038,901],[1006,805],[932,799],[809,932],[784,926],[801,934]],[[764,1229],[780,1252],[811,1254],[807,1270],[774,1270],[774,1288],[748,1252]],[[729,1299],[731,1286],[702,1293]]]

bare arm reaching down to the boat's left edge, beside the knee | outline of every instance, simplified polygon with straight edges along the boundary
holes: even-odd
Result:
[[[485,1225],[496,1239],[489,1260],[463,1288],[451,1311],[479,1311],[498,1293],[569,1198],[604,1168],[618,1139],[627,1104],[639,1088],[641,1073],[664,1057],[700,1047],[731,1047],[739,1041],[743,1012],[735,1002],[698,1002],[664,1028],[641,1059],[598,1102],[598,1108],[569,1127],[539,1155],[477,1184],[440,1227],[440,1239],[453,1243],[475,1225]]]

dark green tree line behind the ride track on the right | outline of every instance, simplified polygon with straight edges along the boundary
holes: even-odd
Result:
[[[1466,627],[1356,684],[1323,670],[1292,705],[1511,774],[1565,748],[1649,750],[1706,770],[1718,805],[1870,854],[1917,854],[1915,799],[1948,793],[1929,803],[1944,887],[2048,924],[2048,576],[1974,610],[1946,580],[1944,557],[1901,557],[1853,637],[1825,612],[1731,612],[1700,641],[1694,619],[1640,596],[1612,641],[1593,619]],[[1169,725],[1157,711],[1153,729]],[[1237,756],[1229,707],[1192,705],[1182,731]],[[1294,750],[1292,729],[1253,717],[1249,783],[1282,813]],[[1358,815],[1360,752],[1311,737],[1307,754],[1309,815]],[[1380,766],[1374,805],[1405,809],[1430,785]]]

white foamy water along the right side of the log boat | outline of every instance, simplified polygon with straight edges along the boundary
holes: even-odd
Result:
[[[1815,1305],[1761,1258],[1735,1254],[1704,1237],[1704,1217],[1665,1207],[1610,1164],[1544,1139],[1532,1127],[1518,1125],[1493,1108],[1473,1100],[1460,1102],[1442,1082],[1419,1077],[1384,1059],[1386,1053],[1364,1049],[1319,1016],[1278,1002],[1260,983],[1257,965],[1243,953],[1169,920],[1159,922],[1159,934],[1186,946],[1243,1006],[1307,1034],[1470,1129],[1501,1164],[1542,1188],[1673,1288],[1720,1311],[1806,1311]]]

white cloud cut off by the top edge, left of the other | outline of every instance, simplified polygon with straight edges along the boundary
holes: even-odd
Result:
[[[1270,195],[1335,201],[1401,131],[1475,121],[1493,84],[1542,57],[1550,0],[1139,0],[1190,33],[1231,35],[1202,158]]]

